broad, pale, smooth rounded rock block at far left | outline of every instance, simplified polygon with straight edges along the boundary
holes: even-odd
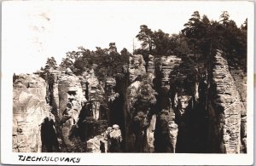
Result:
[[[35,74],[19,75],[13,93],[13,151],[42,152],[42,146],[46,145],[42,145],[41,124],[45,119],[55,121],[45,101],[46,83]]]

